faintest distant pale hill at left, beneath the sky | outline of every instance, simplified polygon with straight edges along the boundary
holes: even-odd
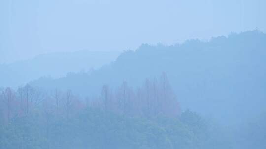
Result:
[[[0,86],[17,87],[42,76],[60,78],[68,72],[88,72],[110,63],[119,54],[118,51],[58,52],[0,64]]]

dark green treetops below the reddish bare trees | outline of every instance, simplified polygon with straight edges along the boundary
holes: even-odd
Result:
[[[0,126],[0,149],[203,149],[208,132],[190,111],[146,119],[86,109],[68,121],[42,114],[16,118]]]

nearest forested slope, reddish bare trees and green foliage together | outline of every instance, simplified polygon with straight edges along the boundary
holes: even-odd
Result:
[[[166,76],[161,80],[136,91],[124,82],[115,93],[104,85],[96,99],[29,85],[2,89],[0,149],[232,148],[223,128],[181,112]]]

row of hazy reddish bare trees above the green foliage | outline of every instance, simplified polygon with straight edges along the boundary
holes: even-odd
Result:
[[[17,90],[1,88],[0,102],[0,119],[4,124],[34,111],[63,116],[68,120],[86,107],[136,117],[176,117],[180,113],[178,100],[166,73],[162,73],[159,79],[146,79],[137,89],[130,87],[126,81],[115,90],[103,85],[99,96],[84,99],[74,95],[71,90],[55,89],[48,92],[29,84]]]

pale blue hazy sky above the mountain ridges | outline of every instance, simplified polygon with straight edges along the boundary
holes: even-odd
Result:
[[[0,63],[266,32],[266,0],[0,0]]]

